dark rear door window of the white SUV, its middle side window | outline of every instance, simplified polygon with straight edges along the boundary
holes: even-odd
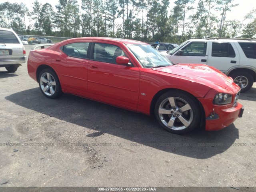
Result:
[[[235,51],[230,43],[212,42],[212,57],[235,57]]]

